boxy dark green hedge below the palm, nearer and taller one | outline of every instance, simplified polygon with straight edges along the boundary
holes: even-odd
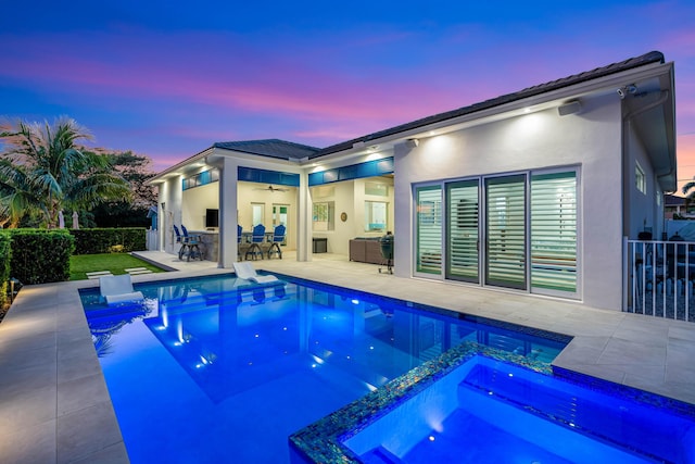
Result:
[[[70,279],[75,239],[67,230],[13,229],[10,236],[12,277],[24,285]]]

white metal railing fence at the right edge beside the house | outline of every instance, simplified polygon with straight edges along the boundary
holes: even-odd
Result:
[[[695,242],[624,240],[623,311],[695,322]]]

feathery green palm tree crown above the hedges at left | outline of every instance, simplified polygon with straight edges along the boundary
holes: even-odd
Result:
[[[109,158],[79,145],[91,135],[70,117],[3,124],[0,139],[0,217],[5,223],[16,225],[23,215],[38,213],[51,228],[63,210],[89,210],[130,196]]]

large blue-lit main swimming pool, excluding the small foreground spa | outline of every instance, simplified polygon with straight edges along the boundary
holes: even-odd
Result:
[[[131,462],[287,463],[290,435],[462,342],[549,372],[569,341],[278,277],[137,285],[146,304],[116,309],[80,292]]]

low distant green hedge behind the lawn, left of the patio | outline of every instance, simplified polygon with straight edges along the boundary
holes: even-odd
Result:
[[[147,249],[143,227],[70,229],[75,237],[75,254],[130,252]]]

